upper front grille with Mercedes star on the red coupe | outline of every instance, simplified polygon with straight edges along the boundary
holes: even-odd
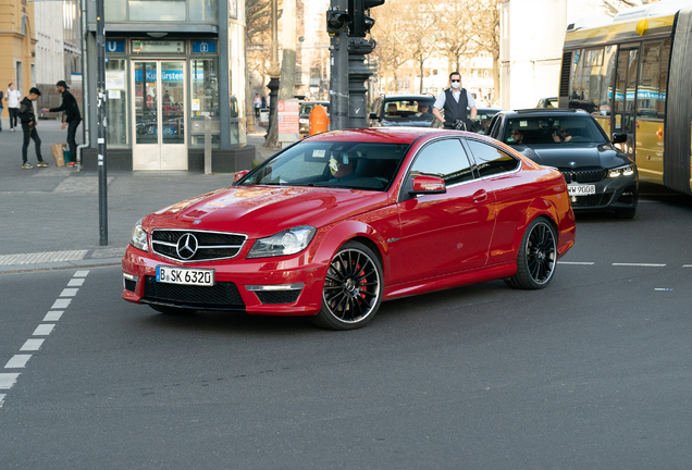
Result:
[[[188,234],[197,240],[197,250],[191,258],[182,258],[177,253],[177,242]],[[155,228],[151,232],[151,248],[157,255],[178,261],[210,261],[235,258],[246,239],[247,235],[243,234]]]

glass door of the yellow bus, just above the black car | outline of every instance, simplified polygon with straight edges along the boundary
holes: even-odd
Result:
[[[634,159],[634,132],[637,115],[637,72],[639,70],[639,47],[621,47],[618,52],[615,95],[613,96],[614,133],[627,134],[627,143],[618,144],[628,157]]]

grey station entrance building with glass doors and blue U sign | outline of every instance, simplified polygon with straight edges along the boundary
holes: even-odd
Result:
[[[203,170],[210,119],[212,171],[251,165],[245,135],[244,0],[108,0],[107,164],[114,170]],[[89,148],[97,169],[96,7],[88,0]]]

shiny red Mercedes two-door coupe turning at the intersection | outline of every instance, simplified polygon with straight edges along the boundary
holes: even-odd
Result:
[[[125,300],[351,330],[397,297],[545,287],[574,243],[563,174],[477,134],[330,132],[234,180],[135,225]]]

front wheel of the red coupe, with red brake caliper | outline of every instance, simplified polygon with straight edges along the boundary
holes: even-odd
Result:
[[[312,323],[328,330],[364,326],[382,302],[382,265],[367,246],[347,242],[330,262],[322,289],[322,309]]]

